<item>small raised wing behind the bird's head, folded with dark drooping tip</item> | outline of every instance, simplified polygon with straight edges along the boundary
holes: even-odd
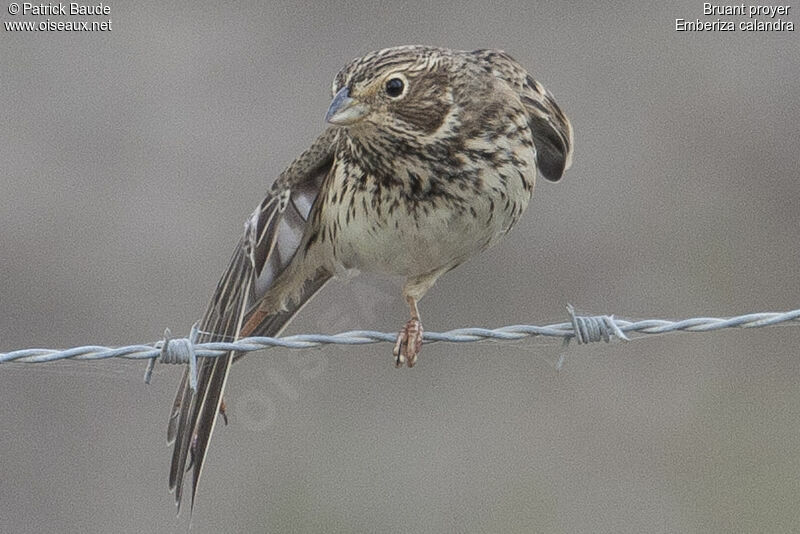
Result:
[[[572,125],[553,95],[505,52],[476,50],[472,54],[519,95],[536,147],[536,167],[547,180],[560,180],[572,164]]]

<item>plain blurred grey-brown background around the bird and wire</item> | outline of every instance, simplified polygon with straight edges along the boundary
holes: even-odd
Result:
[[[563,182],[423,301],[428,330],[800,307],[797,33],[676,33],[694,1],[380,4],[113,2],[104,34],[0,31],[0,351],[188,332],[338,69],[410,43],[507,50],[576,132]],[[289,331],[405,319],[395,281],[361,278]],[[800,531],[798,341],[572,346],[560,371],[558,342],[431,345],[411,371],[388,345],[261,353],[192,531]],[[0,367],[0,531],[186,531],[181,371],[143,368]]]

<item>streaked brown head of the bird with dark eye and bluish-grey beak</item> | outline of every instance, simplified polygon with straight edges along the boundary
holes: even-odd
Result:
[[[354,59],[333,81],[325,119],[352,134],[430,135],[450,113],[452,57],[437,48],[387,48]]]

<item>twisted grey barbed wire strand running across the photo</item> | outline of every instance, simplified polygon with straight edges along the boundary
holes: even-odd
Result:
[[[780,323],[800,320],[800,309],[787,312],[762,312],[736,317],[694,317],[678,321],[664,319],[644,319],[629,321],[613,315],[578,315],[567,305],[569,322],[545,326],[510,325],[501,328],[458,328],[448,332],[425,332],[424,343],[473,343],[488,339],[511,341],[527,337],[561,338],[564,343],[574,339],[578,344],[597,341],[610,342],[612,339],[630,341],[628,334],[666,334],[670,332],[711,332],[724,328],[761,328]],[[798,323],[800,324],[800,323]],[[322,345],[367,345],[371,343],[394,343],[397,333],[376,332],[373,330],[351,330],[339,334],[298,334],[286,337],[248,337],[234,341],[214,341],[197,343],[200,331],[195,325],[186,338],[171,339],[169,329],[164,339],[146,345],[125,347],[104,347],[87,345],[66,350],[22,349],[0,353],[0,364],[4,363],[44,363],[57,360],[104,360],[125,358],[129,360],[149,360],[145,372],[145,382],[149,383],[153,366],[158,360],[162,363],[189,364],[192,386],[197,380],[197,358],[216,358],[228,352],[254,352],[281,347],[285,349],[308,349]],[[637,339],[637,338],[633,338]]]

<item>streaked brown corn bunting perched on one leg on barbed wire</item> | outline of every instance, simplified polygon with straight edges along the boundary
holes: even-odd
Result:
[[[419,301],[444,273],[495,244],[525,211],[537,175],[561,179],[573,133],[553,96],[494,49],[398,46],[335,76],[328,126],[279,174],[198,324],[198,342],[278,336],[334,277],[396,275],[409,319],[392,350],[413,367]],[[191,509],[220,415],[230,352],[187,368],[170,412],[169,487]]]

